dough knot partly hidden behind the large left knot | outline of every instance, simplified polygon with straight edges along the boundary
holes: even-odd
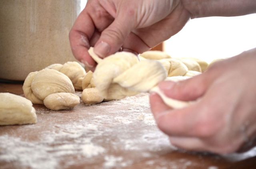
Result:
[[[64,65],[61,64],[53,64],[45,69],[54,69],[66,75],[74,85],[74,88],[77,90],[82,90],[82,80],[84,78],[85,70],[84,68],[77,62],[67,62]]]

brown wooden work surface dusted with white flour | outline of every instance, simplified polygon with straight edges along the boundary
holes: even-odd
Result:
[[[23,96],[22,85],[0,92]],[[76,92],[81,96],[81,92]],[[256,150],[218,156],[177,151],[158,130],[148,96],[52,111],[34,105],[37,124],[0,127],[0,169],[222,169],[253,168]]]

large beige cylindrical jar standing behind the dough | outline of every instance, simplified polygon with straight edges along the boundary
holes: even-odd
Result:
[[[0,79],[74,61],[68,33],[83,0],[0,0]]]

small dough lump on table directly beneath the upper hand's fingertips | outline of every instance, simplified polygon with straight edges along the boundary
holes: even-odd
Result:
[[[85,88],[82,92],[82,100],[86,105],[97,104],[104,100],[97,88]]]

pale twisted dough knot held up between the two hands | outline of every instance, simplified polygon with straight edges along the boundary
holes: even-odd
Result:
[[[154,60],[138,60],[129,52],[117,52],[103,60],[89,51],[98,62],[93,73],[94,83],[101,96],[107,100],[121,99],[146,92],[163,81],[166,71],[162,64]]]

